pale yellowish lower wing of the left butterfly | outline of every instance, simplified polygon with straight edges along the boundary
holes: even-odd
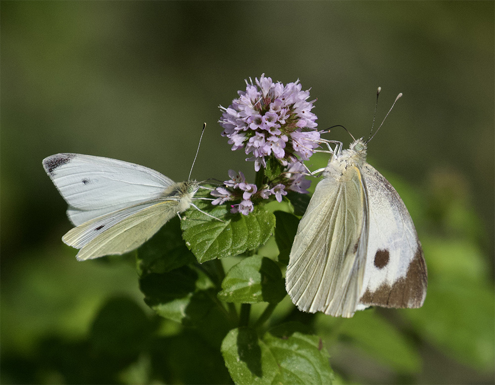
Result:
[[[83,223],[67,232],[62,241],[80,249],[79,261],[124,254],[148,241],[180,209],[175,199],[137,204]]]

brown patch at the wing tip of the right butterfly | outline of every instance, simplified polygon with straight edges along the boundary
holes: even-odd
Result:
[[[425,300],[427,284],[428,274],[423,249],[418,241],[418,249],[409,264],[405,278],[399,278],[392,287],[383,284],[374,292],[366,289],[359,302],[370,306],[421,307]]]

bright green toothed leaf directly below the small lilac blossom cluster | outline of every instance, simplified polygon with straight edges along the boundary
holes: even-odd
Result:
[[[187,211],[181,223],[182,236],[199,263],[254,250],[268,240],[275,226],[273,213],[259,205],[247,216],[231,214],[227,206],[213,206],[209,202],[198,202],[198,207],[223,221],[194,208]]]

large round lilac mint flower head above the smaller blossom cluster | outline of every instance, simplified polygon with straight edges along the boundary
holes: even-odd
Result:
[[[307,160],[318,147],[320,133],[316,130],[316,115],[311,112],[309,90],[301,91],[299,80],[283,85],[262,74],[255,84],[246,80],[246,91],[239,91],[223,110],[219,120],[229,138],[232,150],[244,148],[252,154],[254,170],[266,167],[267,156],[274,156],[283,166]]]

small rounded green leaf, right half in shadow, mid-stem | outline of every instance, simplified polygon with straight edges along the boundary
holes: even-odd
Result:
[[[254,255],[233,266],[222,282],[218,298],[226,302],[278,303],[286,295],[278,265],[270,258]]]

